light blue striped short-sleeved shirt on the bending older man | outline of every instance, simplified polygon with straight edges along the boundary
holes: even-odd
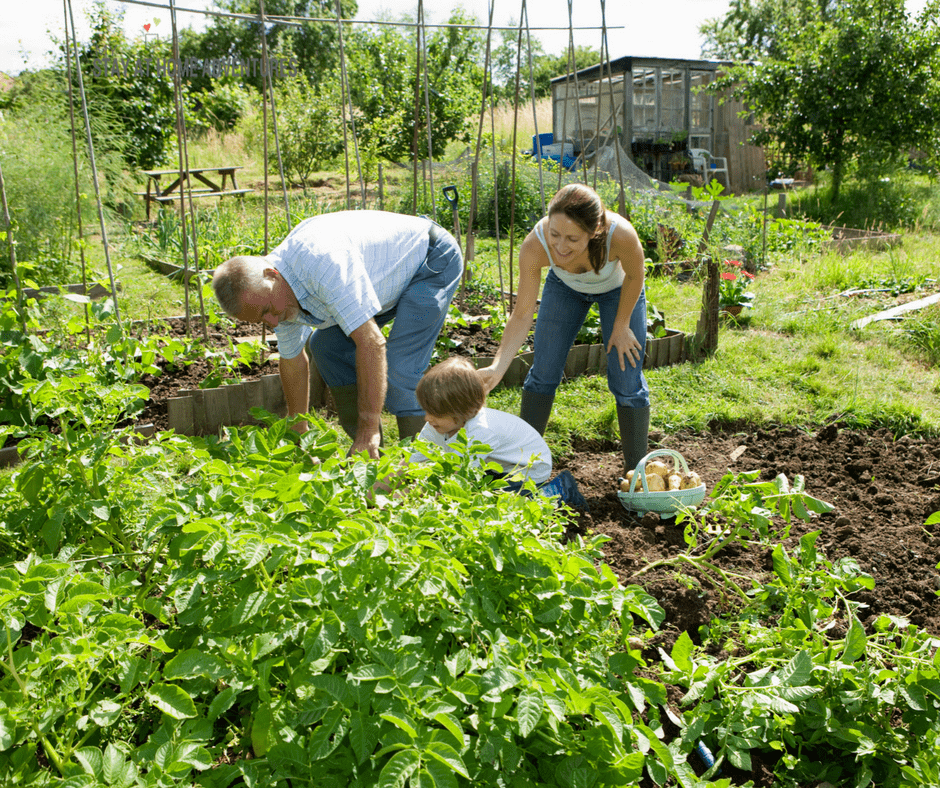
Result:
[[[391,309],[425,261],[431,222],[386,211],[339,211],[298,224],[267,257],[300,303],[274,329],[282,358],[294,358],[314,328],[347,336]]]

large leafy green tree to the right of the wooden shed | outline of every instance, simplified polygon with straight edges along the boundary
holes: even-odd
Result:
[[[761,44],[775,55],[730,69],[713,87],[730,88],[762,124],[754,143],[829,168],[835,202],[852,167],[880,173],[911,148],[935,148],[937,6],[933,0],[915,20],[903,0],[825,4],[805,24],[776,24]]]

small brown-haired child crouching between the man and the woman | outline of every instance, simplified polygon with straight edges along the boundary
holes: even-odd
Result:
[[[518,490],[531,479],[545,495],[558,495],[566,503],[586,508],[577,482],[564,471],[549,484],[552,455],[544,438],[518,416],[486,407],[486,388],[473,364],[453,356],[428,370],[415,391],[425,412],[418,438],[453,451],[453,438],[463,429],[467,439],[490,447],[486,461],[495,462]],[[427,460],[420,452],[412,462]]]

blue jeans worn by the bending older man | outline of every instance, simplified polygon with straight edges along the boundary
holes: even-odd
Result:
[[[385,407],[396,416],[424,415],[415,388],[431,361],[434,343],[463,274],[463,256],[457,241],[438,225],[432,225],[430,236],[428,256],[398,303],[375,316],[380,328],[395,321],[385,344],[388,361]],[[356,343],[339,326],[314,331],[307,350],[327,386],[349,386],[356,382]]]

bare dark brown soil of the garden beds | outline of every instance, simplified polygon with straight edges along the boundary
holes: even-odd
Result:
[[[236,325],[231,336],[256,333]],[[224,339],[219,334],[217,340]],[[469,335],[467,339],[469,339]],[[466,347],[466,344],[465,344]],[[246,370],[246,377],[269,374],[276,365]],[[167,396],[194,388],[207,368],[194,365],[151,381],[152,402],[141,423],[164,428]],[[817,548],[830,562],[854,559],[875,580],[874,590],[862,590],[854,600],[866,627],[882,615],[902,616],[940,636],[940,524],[925,525],[940,511],[940,439],[902,437],[884,430],[851,429],[839,423],[801,429],[793,426],[713,424],[702,433],[651,435],[651,448],[678,451],[697,471],[709,491],[726,474],[759,470],[765,480],[784,474],[791,482],[804,477],[806,492],[832,504],[831,512],[809,523],[794,520],[784,545],[791,553],[801,536],[819,531]],[[637,584],[666,611],[665,623],[646,653],[657,660],[669,651],[680,632],[700,640],[701,628],[720,614],[722,595],[709,578],[696,571],[645,571],[655,561],[686,549],[683,528],[659,515],[627,512],[617,497],[623,475],[619,446],[614,442],[573,441],[572,451],[556,458],[555,470],[569,470],[577,479],[589,510],[572,517],[569,537],[590,532],[608,538],[603,550],[607,563],[624,584]],[[783,523],[777,523],[783,527]],[[725,548],[715,563],[727,572],[760,582],[772,570],[765,548]],[[832,637],[846,631],[846,622],[830,622]],[[770,785],[772,765],[755,759],[754,771],[737,775]],[[726,776],[732,776],[726,774]]]

